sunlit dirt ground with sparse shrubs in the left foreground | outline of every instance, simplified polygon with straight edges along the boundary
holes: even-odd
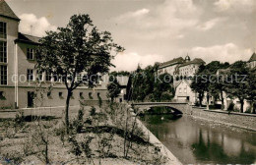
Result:
[[[121,125],[124,125],[125,116],[121,113],[123,110],[117,110],[112,116],[103,112],[102,114],[107,114],[103,122],[96,116],[91,118],[93,124],[88,124],[85,121],[90,121],[92,107],[83,108],[82,125],[85,131],[89,126],[91,128],[97,128],[96,126],[122,128]],[[74,127],[78,110],[78,107],[70,110],[70,123]],[[101,110],[97,107],[96,113],[99,111]],[[143,142],[133,141],[132,138],[127,139],[124,145],[125,139],[122,135],[112,132],[96,130],[75,133],[73,131],[70,135],[64,135],[62,119],[64,112],[61,108],[25,110],[23,114],[25,122],[19,121],[20,117],[14,118],[13,114],[12,116],[7,114],[5,113],[4,118],[0,118],[0,164],[46,164],[46,146],[50,164],[162,164],[166,159],[156,151],[153,144],[145,142],[147,136],[142,136],[145,139]],[[34,114],[39,114],[37,116],[40,118],[35,118]],[[127,125],[130,128],[133,127],[132,123]],[[127,143],[131,147],[127,156],[124,156],[124,146],[127,149]]]

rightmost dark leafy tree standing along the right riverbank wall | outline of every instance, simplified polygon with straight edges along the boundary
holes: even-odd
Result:
[[[226,92],[240,101],[240,112],[243,113],[244,100],[248,98],[248,90],[250,84],[249,69],[246,62],[237,61],[229,67],[230,71],[227,74],[228,80],[226,81]]]

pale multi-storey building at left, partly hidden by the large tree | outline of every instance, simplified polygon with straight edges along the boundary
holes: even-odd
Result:
[[[34,69],[34,48],[39,37],[19,32],[19,23],[20,19],[8,4],[0,0],[0,108],[26,108],[35,106],[34,103],[36,106],[65,105],[65,84],[51,74],[37,75]],[[73,91],[70,105],[79,105],[80,101],[97,102],[99,97],[108,100],[106,83],[106,79],[99,81],[94,89],[79,86]],[[50,85],[52,90],[48,89]],[[42,95],[40,98],[38,92]]]

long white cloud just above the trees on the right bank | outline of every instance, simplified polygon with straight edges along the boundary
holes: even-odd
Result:
[[[224,45],[193,47],[189,55],[192,58],[202,58],[207,63],[211,61],[233,63],[238,60],[248,61],[252,55],[252,50],[240,48],[230,42]]]

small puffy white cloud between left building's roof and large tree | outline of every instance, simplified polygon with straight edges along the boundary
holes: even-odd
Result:
[[[46,30],[57,29],[57,27],[50,25],[45,17],[37,18],[33,14],[23,14],[19,18],[22,20],[19,29],[27,34],[43,36]]]

